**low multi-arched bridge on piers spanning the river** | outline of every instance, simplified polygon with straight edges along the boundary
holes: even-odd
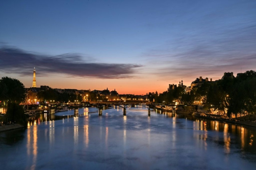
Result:
[[[30,107],[39,107],[39,106],[45,106],[50,110],[55,110],[57,107],[59,106],[67,106],[69,108],[74,108],[74,114],[78,114],[78,108],[79,107],[97,107],[98,108],[98,114],[102,115],[102,110],[105,107],[108,106],[119,106],[121,108],[123,108],[123,115],[126,115],[126,108],[128,107],[134,107],[135,105],[138,106],[143,106],[146,107],[148,109],[148,115],[150,116],[150,108],[157,108],[160,110],[164,110],[164,111],[169,111],[172,112],[173,114],[175,114],[175,109],[178,107],[182,107],[182,106],[192,106],[195,107],[196,109],[198,108],[198,105],[175,105],[175,104],[157,104],[157,103],[152,103],[152,102],[142,102],[142,101],[107,101],[107,102],[82,102],[82,103],[48,103],[48,104],[23,104],[24,108],[28,108]],[[55,112],[53,112],[55,113]]]

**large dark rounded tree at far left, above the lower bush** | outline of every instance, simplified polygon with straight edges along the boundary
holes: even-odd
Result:
[[[25,88],[17,79],[2,77],[0,80],[0,101],[4,108],[8,103],[21,103],[25,100]]]

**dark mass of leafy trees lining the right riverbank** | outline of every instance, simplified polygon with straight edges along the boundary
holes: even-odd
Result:
[[[170,89],[156,95],[149,93],[150,101],[191,105],[201,100],[206,109],[214,109],[229,117],[231,114],[256,115],[256,72],[239,73],[236,78],[224,77],[216,82],[205,82],[186,93],[181,87]]]

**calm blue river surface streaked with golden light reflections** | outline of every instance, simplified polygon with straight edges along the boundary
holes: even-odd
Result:
[[[41,114],[0,133],[0,169],[255,169],[256,130],[131,107]]]

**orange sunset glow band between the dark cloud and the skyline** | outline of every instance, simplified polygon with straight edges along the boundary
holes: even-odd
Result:
[[[64,75],[41,77],[37,75],[37,84],[40,86],[49,86],[51,88],[59,89],[77,89],[77,90],[104,90],[108,88],[110,91],[116,90],[118,94],[134,94],[134,95],[146,95],[149,92],[158,91],[162,93],[167,91],[169,84],[178,84],[182,79],[183,84],[187,87],[191,85],[191,82],[201,76],[200,73],[194,73],[195,75],[187,75],[187,78],[177,78],[172,76],[157,76],[157,75],[140,75],[136,78],[127,79],[97,79],[97,78],[74,78],[67,77]],[[215,73],[216,74],[216,73]],[[222,77],[223,73],[217,75],[202,75],[203,78],[212,78],[218,80]],[[5,75],[11,78],[20,80],[26,88],[31,87],[32,78],[31,76],[13,76]]]

